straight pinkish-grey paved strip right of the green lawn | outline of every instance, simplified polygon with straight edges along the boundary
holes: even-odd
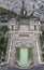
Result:
[[[38,66],[39,65],[39,56],[38,56],[38,50],[36,50],[36,41],[32,41],[33,45],[33,65]]]

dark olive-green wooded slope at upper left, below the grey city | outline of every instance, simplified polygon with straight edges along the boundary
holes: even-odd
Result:
[[[9,14],[9,18],[13,18],[17,16],[15,12],[0,8],[0,15],[3,15],[5,13]]]

